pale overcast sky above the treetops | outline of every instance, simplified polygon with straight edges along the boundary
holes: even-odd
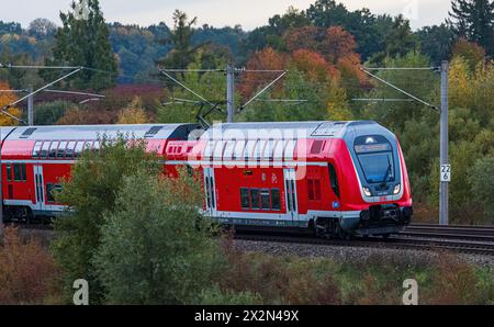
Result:
[[[59,11],[67,11],[71,0],[0,0],[0,20],[23,26],[47,18],[59,23]],[[315,0],[100,0],[106,21],[150,25],[165,21],[171,25],[175,9],[197,15],[199,24],[216,27],[240,24],[245,30],[265,25],[289,5],[307,9]],[[440,24],[448,15],[450,0],[341,0],[350,10],[369,8],[374,13],[403,13],[412,27]]]

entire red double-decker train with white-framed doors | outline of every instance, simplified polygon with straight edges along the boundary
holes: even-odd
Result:
[[[319,236],[402,230],[413,214],[396,137],[374,122],[30,126],[1,128],[8,219],[52,218],[54,190],[100,137],[146,140],[164,172],[201,172],[202,212],[236,228],[313,230]]]

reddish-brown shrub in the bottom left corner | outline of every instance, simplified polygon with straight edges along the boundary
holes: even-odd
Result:
[[[16,229],[5,228],[0,247],[0,304],[53,301],[57,296],[57,278],[52,257],[38,241],[22,241]]]

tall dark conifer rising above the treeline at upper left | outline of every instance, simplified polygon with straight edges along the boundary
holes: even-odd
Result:
[[[106,89],[115,83],[117,65],[99,0],[76,1],[71,3],[71,11],[60,13],[63,26],[55,36],[54,57],[48,64],[91,68],[78,72],[74,78],[75,87],[97,91]],[[87,18],[79,16],[81,13],[78,12],[79,7],[86,5],[85,3],[88,3]],[[54,76],[45,77],[52,79]]]

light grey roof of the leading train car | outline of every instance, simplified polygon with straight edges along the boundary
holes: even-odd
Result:
[[[202,139],[289,139],[289,138],[344,138],[356,129],[381,129],[373,121],[351,122],[281,122],[216,124]],[[385,128],[384,128],[385,129]],[[388,129],[385,129],[388,131]]]

